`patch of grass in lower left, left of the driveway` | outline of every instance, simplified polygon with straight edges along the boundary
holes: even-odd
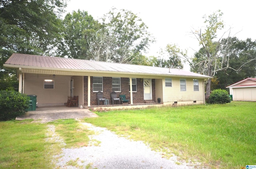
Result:
[[[45,130],[31,120],[0,122],[0,168],[52,168]]]

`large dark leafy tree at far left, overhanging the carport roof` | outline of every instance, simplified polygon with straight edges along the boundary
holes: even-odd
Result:
[[[51,53],[60,37],[60,14],[65,7],[66,0],[0,0],[1,89],[16,89],[15,70],[3,67],[13,52]],[[10,83],[7,85],[6,81]]]

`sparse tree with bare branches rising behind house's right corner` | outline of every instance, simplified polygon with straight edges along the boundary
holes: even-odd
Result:
[[[200,55],[203,59],[200,59],[196,64],[191,64],[192,69],[194,67],[200,67],[203,73],[210,77],[214,77],[217,71],[221,71],[225,69],[224,61],[227,59],[227,55],[220,52],[220,40],[217,42],[215,39],[217,38],[217,31],[224,28],[224,23],[221,19],[223,13],[214,12],[212,15],[203,18],[205,19],[204,23],[206,24],[206,28],[202,32],[202,30],[194,30],[192,33],[198,39],[200,45],[202,45],[203,55]],[[220,56],[219,54],[223,54]],[[228,54],[228,53],[227,53]],[[228,65],[227,65],[228,66]],[[206,83],[206,98],[210,96],[210,86],[211,79],[208,79]]]

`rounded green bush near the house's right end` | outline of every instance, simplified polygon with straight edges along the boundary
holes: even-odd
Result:
[[[231,100],[226,90],[215,89],[211,92],[208,102],[211,104],[224,104],[230,103]]]

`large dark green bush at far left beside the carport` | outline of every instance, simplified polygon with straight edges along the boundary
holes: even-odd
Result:
[[[14,90],[0,91],[0,121],[12,120],[26,113],[29,96]]]

